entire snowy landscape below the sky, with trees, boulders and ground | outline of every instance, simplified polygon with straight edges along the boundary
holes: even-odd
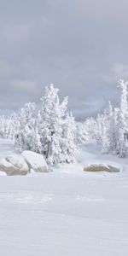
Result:
[[[78,122],[53,84],[0,117],[0,253],[126,256],[127,82],[119,108]]]

